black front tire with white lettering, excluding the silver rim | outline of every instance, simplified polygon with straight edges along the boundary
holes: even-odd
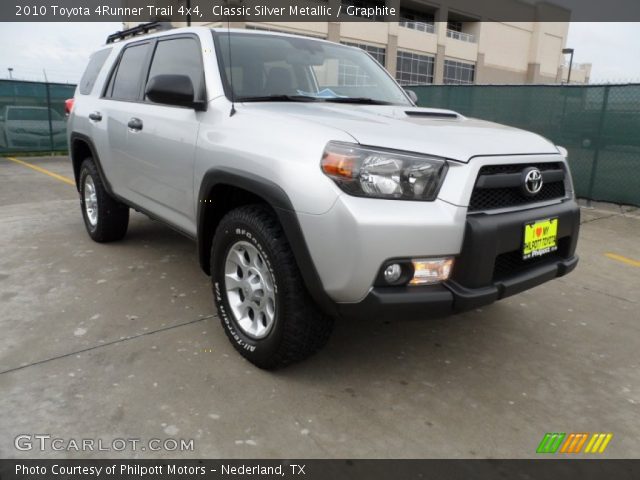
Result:
[[[239,327],[226,294],[227,254],[240,241],[255,246],[273,278],[275,318],[269,333],[260,339]],[[311,299],[285,233],[267,206],[243,206],[221,220],[211,247],[211,274],[222,327],[235,349],[257,367],[271,370],[299,362],[329,339],[333,319]]]

